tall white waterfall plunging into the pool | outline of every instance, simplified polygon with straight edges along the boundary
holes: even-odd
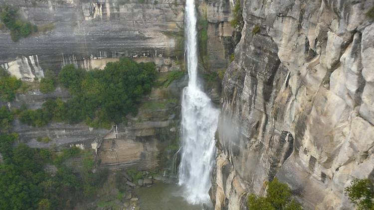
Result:
[[[210,175],[214,163],[214,133],[219,110],[202,92],[197,78],[197,31],[194,0],[187,0],[185,9],[186,56],[188,86],[182,95],[182,155],[179,184],[185,189],[189,203],[208,203]]]

